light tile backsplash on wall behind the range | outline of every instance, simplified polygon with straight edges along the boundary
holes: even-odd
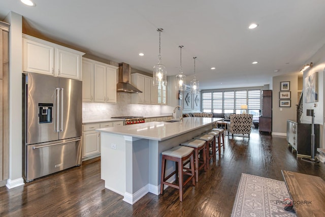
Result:
[[[163,109],[166,112],[166,108]],[[167,108],[173,110],[173,108]],[[161,114],[160,105],[131,104],[131,94],[117,92],[117,103],[82,103],[82,119],[96,120],[106,119],[113,116],[144,116],[150,117]]]

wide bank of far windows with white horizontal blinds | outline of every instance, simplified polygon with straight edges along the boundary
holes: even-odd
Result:
[[[246,112],[259,116],[261,109],[261,88],[234,90],[202,90],[202,111],[215,113],[237,113],[243,110],[241,105],[247,105]]]

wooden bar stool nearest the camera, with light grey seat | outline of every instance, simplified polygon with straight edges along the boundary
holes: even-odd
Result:
[[[195,186],[194,148],[179,145],[163,151],[161,154],[163,154],[163,158],[161,160],[160,194],[164,193],[164,184],[167,184],[170,187],[179,189],[179,200],[183,202],[183,186],[191,179],[192,184]],[[188,168],[183,168],[183,161],[187,160],[188,158],[190,159],[191,170],[188,170]],[[166,160],[175,161],[176,170],[165,178]],[[185,171],[183,171],[183,169],[185,169]],[[187,171],[190,171],[190,173]],[[167,182],[167,180],[174,174],[176,175],[176,180],[178,179],[178,185]],[[189,175],[189,177],[183,182],[184,174]]]

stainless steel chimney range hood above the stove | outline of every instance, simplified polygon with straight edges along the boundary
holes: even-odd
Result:
[[[117,91],[138,93],[142,92],[135,86],[129,83],[129,77],[131,76],[131,70],[128,64],[120,63],[118,64],[118,83],[116,86]]]

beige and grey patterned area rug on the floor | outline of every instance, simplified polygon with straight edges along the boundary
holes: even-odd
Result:
[[[296,216],[284,210],[288,198],[284,181],[242,173],[232,216]]]

